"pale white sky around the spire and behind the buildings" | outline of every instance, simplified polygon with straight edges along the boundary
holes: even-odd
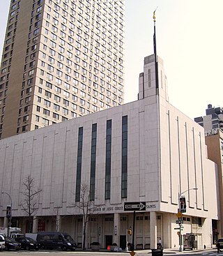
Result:
[[[1,0],[0,54],[10,0]],[[125,103],[137,100],[144,57],[164,61],[169,103],[191,119],[223,107],[223,0],[125,0]]]

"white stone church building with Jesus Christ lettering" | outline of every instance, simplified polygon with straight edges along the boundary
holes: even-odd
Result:
[[[144,66],[144,73],[148,68]],[[143,74],[139,77],[139,86],[142,79]],[[81,182],[90,186],[91,129],[92,124],[97,123],[95,206],[98,207],[88,226],[88,245],[99,241],[100,246],[106,248],[111,241],[121,246],[121,241],[131,242],[132,236],[126,239],[126,230],[133,225],[133,213],[124,211],[124,202],[146,202],[146,210],[136,213],[135,246],[156,248],[160,237],[164,248],[178,246],[179,237],[174,227],[178,227],[178,195],[182,194],[187,203],[182,234],[196,234],[199,248],[204,244],[211,246],[212,220],[220,219],[219,193],[217,167],[207,158],[203,128],[169,104],[166,86],[160,86],[158,93],[153,86],[152,82],[146,96],[140,96],[139,89],[139,100],[132,103],[0,141],[0,175],[3,177],[0,190],[12,197],[13,218],[18,219],[24,232],[22,182],[31,175],[36,186],[42,189],[34,227],[37,229],[41,220],[46,231],[55,230],[57,215],[60,229],[82,243],[82,217],[74,207],[78,130],[79,127],[84,130]],[[126,198],[121,197],[123,116],[128,116]],[[105,199],[109,119],[112,120],[111,197]],[[0,225],[3,225],[8,198],[0,196]]]

